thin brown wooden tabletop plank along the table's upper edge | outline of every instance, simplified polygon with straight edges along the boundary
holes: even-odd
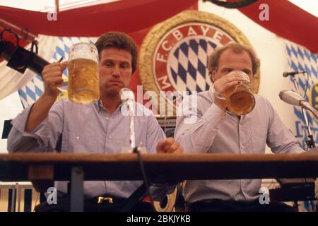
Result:
[[[143,154],[146,162],[304,162],[318,161],[318,153],[305,154]],[[11,153],[0,154],[0,162],[136,162],[136,154],[101,153]]]

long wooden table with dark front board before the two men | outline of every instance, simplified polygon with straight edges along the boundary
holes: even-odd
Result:
[[[143,154],[141,157],[147,177],[167,182],[318,176],[318,153]],[[83,180],[142,179],[138,156],[133,153],[0,154],[0,181],[30,181],[37,191],[43,191],[54,180],[70,181],[71,210],[83,210]]]

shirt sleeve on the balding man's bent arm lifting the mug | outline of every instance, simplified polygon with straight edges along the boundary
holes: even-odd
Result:
[[[185,98],[178,108],[175,139],[187,153],[206,153],[211,147],[225,112],[211,104],[202,113],[196,96]]]

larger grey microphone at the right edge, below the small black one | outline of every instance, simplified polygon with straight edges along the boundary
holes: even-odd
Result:
[[[279,98],[281,98],[283,102],[290,105],[301,106],[304,109],[307,109],[308,111],[312,112],[312,114],[314,114],[314,117],[316,117],[316,119],[318,119],[317,110],[314,109],[314,107],[312,107],[309,102],[306,102],[305,99],[298,93],[295,93],[291,90],[282,90],[281,92],[279,92]]]

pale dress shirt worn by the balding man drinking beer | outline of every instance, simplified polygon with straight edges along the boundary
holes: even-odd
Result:
[[[266,143],[273,153],[304,152],[269,101],[255,99],[253,111],[239,119],[215,105],[210,91],[189,96],[179,107],[175,139],[186,153],[265,153]],[[260,187],[261,179],[196,180],[185,183],[183,194],[187,203],[248,202],[259,198]]]

